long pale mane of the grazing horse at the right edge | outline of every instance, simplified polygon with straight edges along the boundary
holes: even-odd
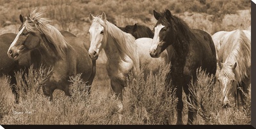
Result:
[[[230,45],[232,43],[232,45]],[[227,39],[227,43],[225,43],[228,48],[232,48],[231,53],[228,55],[225,63],[223,64],[223,74],[228,78],[232,78],[231,74],[228,72],[232,72],[228,70],[227,65],[234,64],[237,62],[237,81],[241,83],[241,81],[248,77],[249,70],[248,65],[250,65],[251,60],[251,47],[250,40],[246,37],[243,31],[237,30],[233,32]],[[233,77],[234,78],[234,77]]]

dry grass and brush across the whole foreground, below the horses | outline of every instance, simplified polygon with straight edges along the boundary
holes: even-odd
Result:
[[[49,73],[46,68],[29,69],[26,81],[34,81],[33,85],[19,83],[26,87],[25,92],[19,92],[20,104],[13,104],[8,78],[2,78],[0,98],[1,125],[163,125],[176,121],[175,104],[177,98],[166,91],[164,79],[170,65],[161,65],[156,75],[149,74],[147,81],[143,80],[143,72],[136,81],[128,81],[124,90],[124,114],[122,121],[118,120],[117,100],[109,88],[109,80],[95,79],[92,93],[88,95],[87,86],[80,74],[70,78],[72,97],[56,90],[54,99],[49,101],[42,92],[38,92],[40,82]],[[41,71],[41,72],[40,72]],[[42,72],[44,71],[44,72]],[[21,74],[22,72],[17,72]],[[35,79],[41,77],[42,79]],[[17,76],[20,78],[20,76]],[[214,84],[214,76],[208,76],[204,71],[198,71],[198,81],[191,85],[197,105],[190,104],[198,110],[197,125],[250,125],[250,95],[244,109],[231,107],[223,109],[220,100],[220,87]],[[42,91],[42,89],[40,89]],[[194,92],[197,91],[197,92]],[[184,95],[184,121],[187,118],[188,102]],[[230,101],[231,102],[231,101]]]

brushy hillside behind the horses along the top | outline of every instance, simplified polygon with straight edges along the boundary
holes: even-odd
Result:
[[[230,31],[239,27],[246,28],[250,25],[249,0],[25,0],[19,1],[19,3],[14,0],[0,0],[0,3],[3,3],[0,5],[0,34],[17,33],[20,25],[19,15],[26,16],[36,8],[45,11],[45,17],[50,18],[52,24],[58,29],[70,31],[77,36],[87,34],[90,26],[89,13],[98,15],[102,11],[106,13],[109,22],[118,26],[138,23],[152,29],[156,22],[153,10],[163,11],[166,8],[171,10],[174,15],[179,15],[191,27],[203,29],[210,34],[221,30]]]

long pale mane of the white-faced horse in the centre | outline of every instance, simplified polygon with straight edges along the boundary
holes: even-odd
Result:
[[[127,61],[127,57],[131,58],[133,64],[137,67],[138,66],[138,60],[135,57],[137,52],[137,46],[135,43],[135,38],[118,27],[116,25],[111,24],[111,22],[104,22],[102,18],[97,15],[92,22],[99,22],[100,25],[102,25],[108,33],[104,32],[104,37],[108,37],[106,34],[110,34],[110,36],[113,37],[113,39],[116,41],[116,46],[118,48],[118,51],[120,52],[120,57]]]

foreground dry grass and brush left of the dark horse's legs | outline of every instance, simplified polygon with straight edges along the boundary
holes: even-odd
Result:
[[[19,92],[22,98],[20,104],[10,105],[7,100],[1,98],[1,125],[115,125],[115,124],[149,124],[159,125],[166,123],[166,118],[170,112],[175,110],[175,99],[172,95],[167,95],[164,79],[168,72],[167,66],[162,66],[157,75],[149,74],[148,81],[143,80],[143,74],[138,76],[138,81],[129,82],[124,92],[124,119],[118,121],[117,100],[111,89],[102,90],[102,85],[93,85],[93,90],[88,95],[87,86],[81,80],[80,74],[70,78],[70,91],[72,97],[67,97],[60,90],[54,92],[54,99],[49,101],[42,92],[38,92],[38,87],[42,80],[47,78],[49,70],[41,67],[39,70],[29,69],[25,74],[26,82],[18,83],[17,87],[26,90]],[[44,71],[44,72],[42,72]],[[22,71],[17,75],[23,74]],[[21,79],[21,76],[17,76]],[[37,79],[35,79],[37,78]],[[41,79],[38,79],[41,78]],[[6,85],[1,90],[1,94],[8,93],[10,86]],[[31,85],[33,84],[33,85]],[[9,89],[8,89],[9,88]],[[103,92],[103,93],[102,93]],[[6,111],[10,109],[10,111]]]

